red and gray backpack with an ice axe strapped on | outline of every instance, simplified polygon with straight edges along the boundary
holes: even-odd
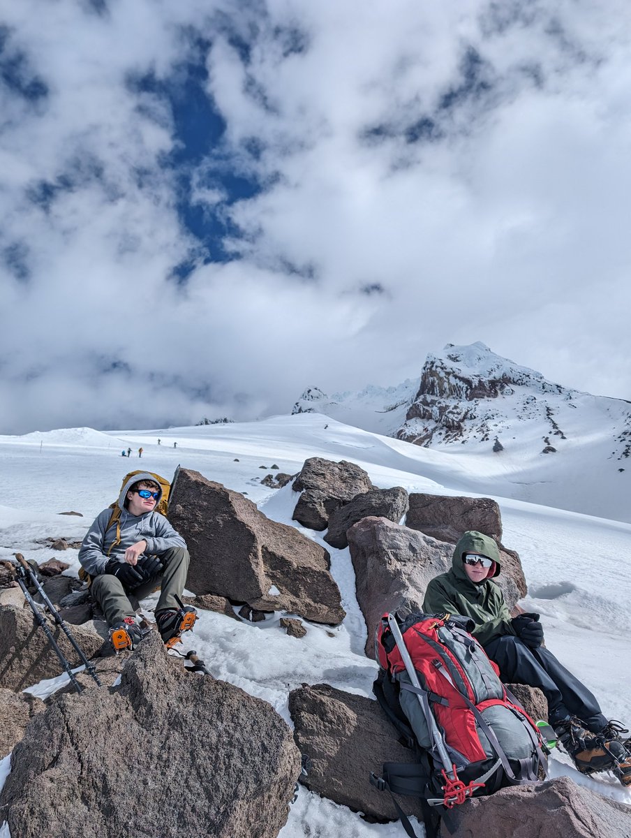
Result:
[[[427,838],[439,812],[444,817],[469,797],[505,785],[536,782],[540,768],[546,775],[539,729],[469,634],[473,625],[458,615],[412,613],[400,620],[384,614],[375,635],[375,696],[420,765],[385,763],[384,776],[373,774],[370,782],[419,796]]]

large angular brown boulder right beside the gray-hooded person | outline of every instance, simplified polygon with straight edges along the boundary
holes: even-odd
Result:
[[[328,552],[295,527],[266,518],[238,492],[180,468],[168,517],[189,546],[186,582],[257,611],[284,610],[316,623],[341,623],[344,608]]]

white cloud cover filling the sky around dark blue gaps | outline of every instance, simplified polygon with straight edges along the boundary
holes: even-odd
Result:
[[[4,13],[0,61],[49,93],[0,87],[3,432],[287,411],[477,339],[631,397],[626,5],[106,8]],[[237,225],[241,259],[178,286],[199,246],[164,166],[173,114],[129,80],[181,75],[196,38],[226,130],[190,199]],[[263,191],[226,202],[226,165]]]

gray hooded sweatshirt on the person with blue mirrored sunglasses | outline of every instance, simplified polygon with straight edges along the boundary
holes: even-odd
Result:
[[[116,525],[112,525],[109,530],[106,530],[112,512],[109,507],[96,517],[95,522],[85,535],[79,551],[79,561],[84,570],[91,576],[98,576],[105,572],[105,566],[111,558],[123,561],[127,547],[131,547],[132,544],[136,544],[137,541],[142,541],[142,539],[147,541],[147,556],[162,556],[171,547],[186,548],[186,542],[181,535],[173,530],[164,515],[155,511],[146,512],[144,515],[132,515],[129,510],[125,509],[127,492],[133,484],[139,483],[141,480],[152,480],[155,483],[153,474],[142,472],[134,474],[122,487],[117,501],[121,510],[119,522],[121,543],[114,547],[110,556],[107,556],[107,551],[116,541]],[[162,489],[158,489],[158,491],[160,497],[162,497]],[[158,498],[156,505],[159,502],[160,498]]]

